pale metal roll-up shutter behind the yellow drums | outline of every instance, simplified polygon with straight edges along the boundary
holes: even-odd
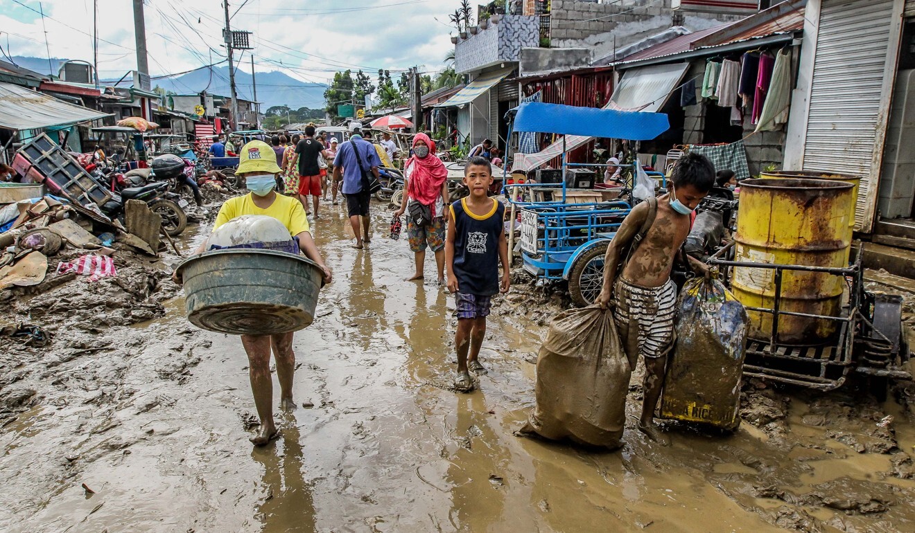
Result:
[[[892,12],[892,0],[823,0],[820,12],[803,169],[863,176],[856,229],[870,226],[867,193],[877,176],[871,165],[886,111],[881,95]]]

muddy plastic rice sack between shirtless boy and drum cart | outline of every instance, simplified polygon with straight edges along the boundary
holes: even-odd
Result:
[[[736,429],[747,338],[743,305],[721,282],[694,279],[680,294],[674,328],[661,418]]]

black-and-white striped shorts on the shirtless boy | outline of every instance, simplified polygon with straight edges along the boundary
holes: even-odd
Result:
[[[673,317],[676,315],[677,287],[667,280],[660,287],[640,287],[619,279],[616,285],[614,311],[623,344],[638,329],[639,353],[644,357],[662,357],[673,341]],[[633,341],[635,339],[632,339]]]

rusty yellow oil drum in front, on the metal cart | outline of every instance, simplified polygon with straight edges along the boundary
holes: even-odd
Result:
[[[740,182],[734,261],[843,268],[848,265],[854,185],[824,179],[770,178]],[[824,272],[783,271],[780,310],[838,316],[845,280]],[[775,271],[736,267],[732,291],[748,307],[772,309]],[[748,336],[769,339],[772,314],[747,310]],[[829,342],[838,323],[780,314],[776,341]]]

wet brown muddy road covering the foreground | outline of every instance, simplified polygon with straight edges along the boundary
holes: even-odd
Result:
[[[349,248],[341,207],[322,208],[315,233],[335,281],[296,333],[299,407],[264,448],[248,442],[241,342],[189,325],[165,274],[116,310],[112,280],[69,306],[34,296],[58,305],[31,317],[52,343],[0,339],[0,530],[915,530],[908,401],[749,383],[736,433],[674,427],[662,448],[634,431],[633,377],[621,451],[518,437],[555,298],[515,285],[490,316],[489,374],[456,394],[453,300],[402,281],[413,257],[385,238],[380,206],[367,251]]]

